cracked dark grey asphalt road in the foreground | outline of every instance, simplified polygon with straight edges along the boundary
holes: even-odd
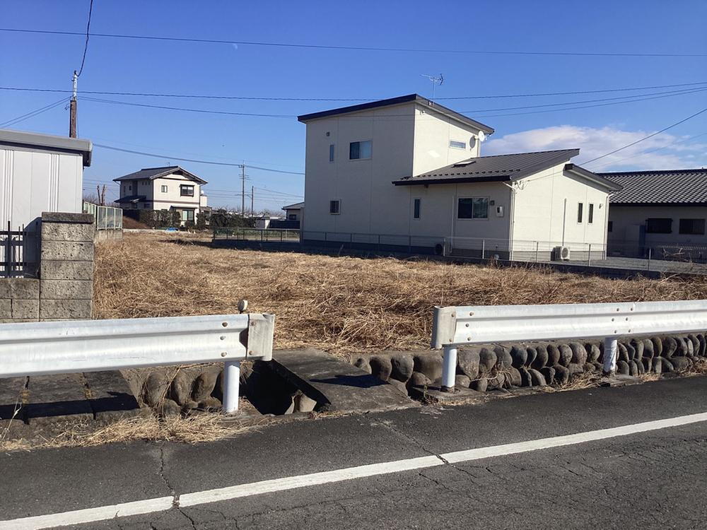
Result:
[[[701,529],[707,517],[704,420],[472,461],[448,455],[706,413],[706,396],[707,378],[669,379],[480,406],[304,420],[197,446],[133,443],[2,454],[0,529],[32,527],[25,517],[119,502],[186,502],[192,493],[233,485],[246,485],[245,496],[71,527]],[[407,459],[436,464],[257,493],[258,483],[269,479],[284,484],[306,473]]]

